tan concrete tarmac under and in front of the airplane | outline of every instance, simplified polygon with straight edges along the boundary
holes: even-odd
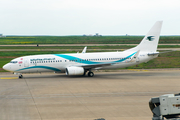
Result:
[[[23,76],[0,73],[0,120],[151,120],[151,97],[180,92],[180,69]]]

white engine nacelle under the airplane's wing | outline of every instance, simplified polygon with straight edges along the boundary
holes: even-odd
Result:
[[[66,75],[83,75],[84,68],[83,67],[67,67]]]

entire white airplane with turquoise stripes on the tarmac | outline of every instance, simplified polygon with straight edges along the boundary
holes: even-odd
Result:
[[[22,78],[23,73],[51,72],[93,77],[93,70],[124,68],[147,62],[159,55],[157,46],[162,21],[157,21],[141,43],[122,52],[44,54],[18,57],[3,66]],[[83,50],[86,51],[86,48]]]

